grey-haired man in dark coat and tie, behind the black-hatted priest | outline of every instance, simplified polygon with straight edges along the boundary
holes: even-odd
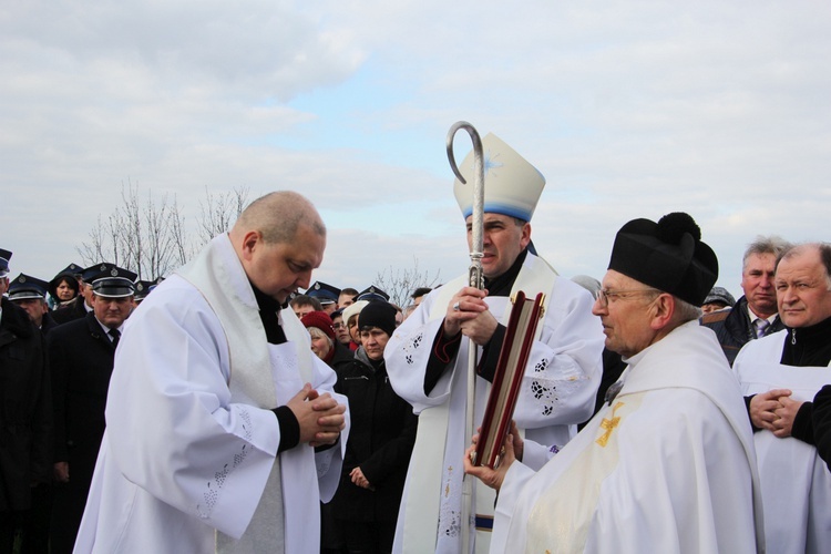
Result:
[[[741,288],[745,296],[731,309],[705,314],[700,322],[716,332],[732,367],[741,347],[784,329],[777,314],[773,288],[777,258],[790,245],[779,237],[759,237],[745,250]]]

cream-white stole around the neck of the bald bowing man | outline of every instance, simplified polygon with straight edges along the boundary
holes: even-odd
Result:
[[[277,362],[295,365],[304,382],[312,381],[309,334],[291,310],[280,310],[280,327],[288,342],[268,343],[259,306],[245,269],[226,234],[214,238],[187,266],[177,271],[205,297],[216,314],[228,343],[230,400],[271,410],[285,404],[296,391],[277,390],[273,357]],[[294,349],[294,351],[291,351]],[[314,464],[314,460],[310,460]],[[252,522],[239,540],[216,532],[216,552],[283,553],[286,541],[280,456],[275,456],[271,473]]]

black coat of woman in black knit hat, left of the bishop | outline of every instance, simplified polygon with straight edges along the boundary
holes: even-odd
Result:
[[[373,367],[362,348],[350,366],[340,366],[335,390],[349,398],[351,419],[340,485],[334,500],[336,517],[394,521],[416,443],[418,418],[412,407],[392,390],[383,362]],[[352,484],[349,473],[357,466],[375,491]]]

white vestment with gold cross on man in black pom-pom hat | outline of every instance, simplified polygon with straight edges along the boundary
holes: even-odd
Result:
[[[542,470],[511,465],[492,553],[763,552],[752,431],[714,332],[690,321],[627,361]]]

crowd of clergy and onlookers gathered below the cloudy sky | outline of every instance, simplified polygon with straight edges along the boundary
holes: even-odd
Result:
[[[326,227],[290,192],[162,283],[10,279],[0,249],[0,552],[823,552],[831,245],[758,237],[736,300],[676,212],[567,279],[531,239],[544,177],[483,145],[484,289],[403,307],[311,283]],[[465,411],[520,290],[543,316],[500,463],[476,465]]]

